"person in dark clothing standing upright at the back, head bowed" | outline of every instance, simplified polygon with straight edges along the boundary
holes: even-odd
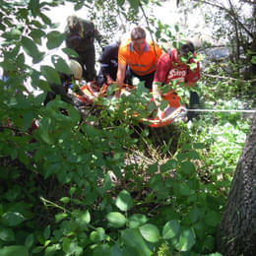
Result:
[[[67,18],[66,46],[77,51],[77,60],[83,68],[83,77],[87,82],[96,79],[96,49],[95,39],[101,46],[102,35],[96,30],[92,22],[85,21],[77,16]]]

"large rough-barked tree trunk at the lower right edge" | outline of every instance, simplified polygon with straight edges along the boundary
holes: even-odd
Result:
[[[231,183],[217,248],[224,256],[256,255],[256,114]]]

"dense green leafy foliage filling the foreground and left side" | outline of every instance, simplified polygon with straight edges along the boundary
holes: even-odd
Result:
[[[85,4],[71,2],[77,10]],[[103,2],[96,1],[96,8],[104,10]],[[122,13],[127,18],[138,14],[139,4],[150,1],[128,2],[131,9]],[[124,7],[128,2],[108,4]],[[214,253],[217,227],[249,123],[238,121],[237,115],[217,114],[153,130],[139,122],[155,111],[153,104],[146,107],[151,95],[142,84],[130,96],[102,98],[102,109],[87,116],[59,96],[43,106],[49,84],[60,84],[57,71],[69,74],[68,66],[53,55],[55,69],[41,65],[37,71],[26,60],[28,55],[32,63],[42,60],[43,38],[48,49],[61,45],[62,33],[45,32],[52,24],[42,11],[62,3],[4,1],[0,7],[5,14],[0,26],[1,67],[9,76],[0,82],[0,254]],[[157,38],[174,38],[169,27],[160,23],[158,27]],[[178,27],[175,30],[179,32]],[[62,50],[77,56],[71,49]],[[28,78],[42,94],[25,94]],[[235,86],[229,90],[224,83],[214,82],[227,97],[234,95]],[[239,102],[218,100],[215,90],[206,89],[208,83],[195,90],[221,107],[239,106]],[[108,96],[114,90],[110,87]],[[186,96],[187,92],[178,93]],[[209,100],[205,104],[213,106]],[[34,120],[38,127],[33,130]]]

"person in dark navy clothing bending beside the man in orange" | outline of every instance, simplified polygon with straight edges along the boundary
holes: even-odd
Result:
[[[99,85],[102,85],[103,83],[110,85],[116,81],[119,45],[120,40],[103,48],[103,51],[98,58],[98,62],[100,63],[100,70],[97,76]]]

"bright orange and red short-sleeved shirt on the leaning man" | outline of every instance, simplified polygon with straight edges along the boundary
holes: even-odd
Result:
[[[160,55],[161,48],[156,42],[147,41],[144,52],[139,54],[129,39],[119,47],[118,63],[129,65],[138,76],[145,76],[156,71]]]

